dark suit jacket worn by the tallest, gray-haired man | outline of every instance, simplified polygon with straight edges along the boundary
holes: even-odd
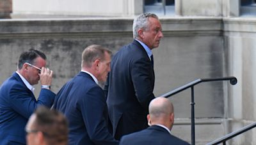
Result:
[[[114,55],[104,86],[113,135],[122,136],[148,127],[148,104],[155,98],[154,82],[151,61],[138,41],[134,40]]]

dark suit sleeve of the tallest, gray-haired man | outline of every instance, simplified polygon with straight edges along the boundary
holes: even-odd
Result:
[[[150,100],[154,99],[152,88],[152,77],[154,72],[152,72],[152,66],[148,60],[141,58],[133,62],[131,68],[131,78],[134,86],[135,94],[140,102],[141,106],[145,110],[148,110],[148,104]]]

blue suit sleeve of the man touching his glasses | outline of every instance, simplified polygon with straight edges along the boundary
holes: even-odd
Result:
[[[25,118],[29,118],[38,105],[51,107],[54,97],[55,94],[50,90],[42,89],[37,101],[33,93],[26,86],[15,84],[10,88],[10,104],[12,109]]]

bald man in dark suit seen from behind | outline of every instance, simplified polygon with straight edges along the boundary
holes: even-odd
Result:
[[[148,111],[147,119],[150,127],[140,132],[124,135],[124,137],[121,138],[120,145],[189,144],[173,136],[170,132],[174,122],[173,104],[170,100],[164,97],[157,97],[150,102]]]

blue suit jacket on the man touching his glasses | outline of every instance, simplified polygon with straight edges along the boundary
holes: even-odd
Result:
[[[0,144],[26,144],[24,128],[37,106],[52,106],[55,93],[42,89],[38,100],[14,72],[0,88]]]

